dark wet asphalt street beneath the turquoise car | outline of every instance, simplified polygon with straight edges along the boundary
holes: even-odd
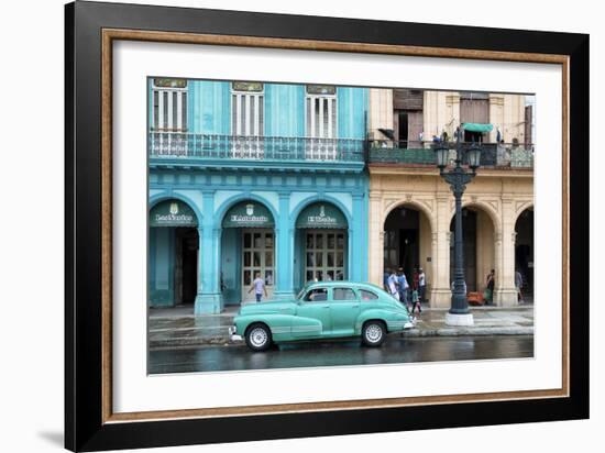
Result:
[[[534,356],[532,335],[400,338],[382,347],[359,340],[290,343],[254,353],[245,345],[202,346],[150,352],[148,373],[222,372],[413,362],[526,358]]]

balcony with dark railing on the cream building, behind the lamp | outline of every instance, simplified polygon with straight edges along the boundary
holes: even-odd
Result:
[[[450,143],[453,147],[455,144]],[[432,142],[370,142],[369,164],[393,164],[409,167],[435,167]],[[463,151],[471,146],[463,144]],[[531,169],[534,168],[534,146],[519,143],[483,143],[481,145],[481,166],[494,169]],[[455,150],[450,150],[450,161],[453,165]],[[462,162],[465,156],[463,154]]]

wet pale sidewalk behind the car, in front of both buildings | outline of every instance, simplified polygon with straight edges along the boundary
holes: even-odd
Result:
[[[193,307],[150,309],[150,349],[229,345],[229,327],[239,307],[220,314],[194,316]],[[422,309],[415,329],[404,336],[532,335],[534,306],[472,307],[473,327],[446,325],[447,309]],[[394,335],[399,333],[394,333]]]

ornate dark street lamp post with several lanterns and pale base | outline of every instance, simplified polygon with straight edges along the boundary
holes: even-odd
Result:
[[[454,281],[452,289],[452,302],[446,316],[446,323],[450,325],[472,325],[473,314],[469,310],[466,301],[466,284],[464,281],[464,255],[462,248],[462,196],[466,185],[476,176],[480,166],[481,148],[474,143],[465,152],[469,169],[462,166],[463,153],[460,136],[462,129],[458,129],[455,139],[455,165],[446,170],[449,163],[450,146],[448,143],[436,143],[433,145],[437,166],[441,177],[450,185],[455,198],[455,230],[454,230]]]

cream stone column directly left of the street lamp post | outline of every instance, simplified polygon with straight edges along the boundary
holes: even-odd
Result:
[[[450,287],[450,198],[448,195],[437,197],[436,251],[433,264],[433,287],[431,307],[449,308],[452,291]]]

